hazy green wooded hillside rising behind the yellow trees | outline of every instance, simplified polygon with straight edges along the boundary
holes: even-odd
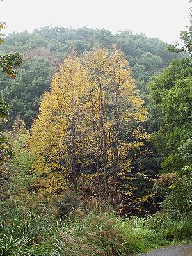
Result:
[[[124,52],[137,87],[147,102],[150,76],[167,67],[176,56],[166,51],[168,45],[157,38],[134,35],[131,31],[113,35],[105,29],[86,27],[77,30],[47,27],[35,29],[33,33],[6,36],[1,52],[21,52],[24,65],[15,79],[10,81],[4,77],[0,84],[1,97],[10,102],[10,122],[5,127],[11,127],[17,115],[29,127],[38,113],[40,96],[49,90],[52,75],[68,53],[77,51],[77,54],[82,54],[94,47],[110,49],[111,44],[116,44]]]

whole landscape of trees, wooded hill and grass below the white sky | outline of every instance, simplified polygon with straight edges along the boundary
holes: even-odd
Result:
[[[192,26],[0,23],[0,255],[143,253],[191,243]]]

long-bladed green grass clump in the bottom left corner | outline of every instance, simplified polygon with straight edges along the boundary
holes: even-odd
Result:
[[[1,211],[0,255],[45,255],[42,244],[53,228],[44,218],[25,209]]]

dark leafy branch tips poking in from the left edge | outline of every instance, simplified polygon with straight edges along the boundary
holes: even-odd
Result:
[[[0,31],[5,28],[5,24],[0,22]],[[2,34],[0,33],[0,44],[3,43]],[[20,66],[22,63],[22,56],[18,53],[0,55],[0,71],[15,78],[16,70],[14,67]],[[1,76],[0,76],[1,78]],[[1,83],[1,80],[0,80]],[[7,122],[9,106],[6,101],[0,98],[0,118],[2,122]],[[4,161],[6,157],[12,156],[13,152],[6,145],[4,137],[0,134],[0,162]]]

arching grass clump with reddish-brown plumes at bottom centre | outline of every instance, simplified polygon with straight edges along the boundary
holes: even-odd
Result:
[[[89,246],[99,246],[103,255],[126,255],[146,251],[145,246],[130,232],[128,225],[127,228],[122,228],[121,221],[110,214],[88,214],[83,223],[76,222],[76,230],[76,234],[84,237]]]

